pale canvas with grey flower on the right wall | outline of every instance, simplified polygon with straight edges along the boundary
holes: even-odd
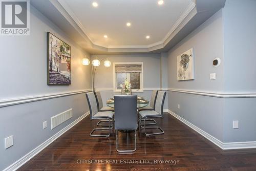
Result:
[[[177,80],[191,80],[194,77],[194,49],[191,48],[177,56]]]

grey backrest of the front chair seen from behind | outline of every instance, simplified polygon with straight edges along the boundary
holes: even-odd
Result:
[[[137,95],[114,96],[115,130],[137,129]]]

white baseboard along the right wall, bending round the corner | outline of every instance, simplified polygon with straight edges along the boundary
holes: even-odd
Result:
[[[164,112],[166,109],[164,110]],[[195,130],[202,136],[204,136],[206,139],[220,147],[221,149],[242,149],[242,148],[256,148],[256,141],[247,141],[247,142],[222,142],[215,138],[214,136],[211,136],[210,134],[206,133],[205,131],[201,130],[199,127],[195,126],[194,124],[188,122],[184,118],[180,117],[176,113],[167,110],[167,112],[180,120],[181,122],[185,123],[187,126],[189,126],[191,129]]]

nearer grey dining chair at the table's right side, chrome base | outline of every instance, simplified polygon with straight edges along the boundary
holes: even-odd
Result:
[[[157,99],[156,99],[156,105],[155,105],[155,110],[153,111],[140,111],[140,129],[144,129],[144,133],[146,136],[148,135],[156,135],[156,134],[163,134],[164,131],[161,127],[159,126],[148,126],[146,127],[145,121],[147,118],[161,118],[163,115],[163,103],[164,99],[166,96],[166,92],[164,91],[158,91],[157,94]],[[141,124],[141,121],[144,121],[144,125]],[[159,129],[160,132],[158,133],[152,133],[152,134],[147,134],[146,129]]]

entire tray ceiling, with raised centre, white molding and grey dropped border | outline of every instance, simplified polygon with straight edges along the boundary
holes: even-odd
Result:
[[[30,3],[91,54],[167,52],[225,5],[225,0],[163,0],[161,6],[158,1],[30,0]],[[94,2],[98,4],[96,8]]]

